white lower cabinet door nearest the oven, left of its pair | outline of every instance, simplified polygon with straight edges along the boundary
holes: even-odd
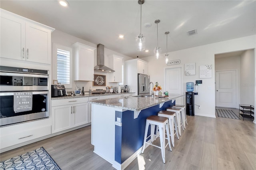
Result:
[[[71,128],[72,113],[73,105],[52,107],[52,133]]]

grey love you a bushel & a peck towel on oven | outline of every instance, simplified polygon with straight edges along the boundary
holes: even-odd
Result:
[[[14,92],[13,109],[15,113],[32,110],[32,92]]]

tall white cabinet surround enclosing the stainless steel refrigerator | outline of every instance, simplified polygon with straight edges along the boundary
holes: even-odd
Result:
[[[124,84],[128,85],[135,95],[138,95],[138,73],[148,73],[148,63],[142,59],[124,61]]]

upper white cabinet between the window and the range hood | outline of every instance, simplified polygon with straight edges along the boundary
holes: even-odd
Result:
[[[94,50],[96,48],[74,43],[74,81],[93,81]]]

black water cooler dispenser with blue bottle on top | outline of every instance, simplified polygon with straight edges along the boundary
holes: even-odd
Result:
[[[194,116],[195,115],[195,109],[194,109],[194,83],[188,82],[186,83],[187,92],[186,92],[186,113],[188,116]]]

